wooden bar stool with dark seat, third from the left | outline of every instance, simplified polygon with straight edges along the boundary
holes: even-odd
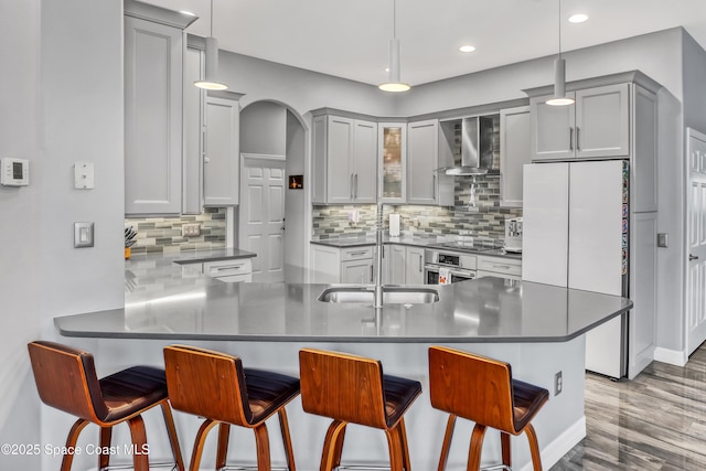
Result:
[[[349,422],[385,431],[391,469],[410,471],[404,414],[421,393],[417,381],[383,374],[376,360],[338,352],[299,352],[301,404],[307,413],[330,417],[321,471],[341,465]]]

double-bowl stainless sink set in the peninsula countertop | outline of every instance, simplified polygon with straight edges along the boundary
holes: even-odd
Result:
[[[322,302],[360,302],[373,303],[372,287],[336,287],[328,288],[317,298]],[[437,302],[439,292],[431,288],[383,287],[383,304],[426,304]]]

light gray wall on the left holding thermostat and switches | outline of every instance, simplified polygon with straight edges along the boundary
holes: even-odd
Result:
[[[30,160],[30,186],[0,188],[2,443],[68,431],[40,427],[51,413],[26,343],[56,339],[56,315],[122,304],[121,11],[120,0],[0,2],[0,156]],[[73,189],[75,161],[95,163],[95,190]],[[76,221],[95,223],[95,247],[73,248]],[[0,468],[45,460],[0,456]]]

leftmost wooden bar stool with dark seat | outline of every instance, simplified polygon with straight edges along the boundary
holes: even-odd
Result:
[[[184,471],[172,411],[167,396],[164,371],[133,366],[101,379],[96,375],[93,355],[54,342],[35,341],[29,345],[36,389],[44,404],[78,417],[66,438],[66,449],[76,447],[78,435],[88,424],[100,427],[100,449],[110,447],[113,426],[127,421],[132,437],[132,463],[136,471],[149,470],[147,435],[141,414],[162,407],[174,462]],[[71,470],[73,453],[64,454],[62,471]],[[110,456],[98,456],[98,469],[109,465]]]

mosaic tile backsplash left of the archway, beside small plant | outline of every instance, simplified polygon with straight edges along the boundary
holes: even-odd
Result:
[[[225,247],[225,207],[205,207],[202,214],[175,217],[130,217],[125,226],[137,231],[133,254],[208,250]],[[201,224],[201,235],[183,237],[184,224]]]

